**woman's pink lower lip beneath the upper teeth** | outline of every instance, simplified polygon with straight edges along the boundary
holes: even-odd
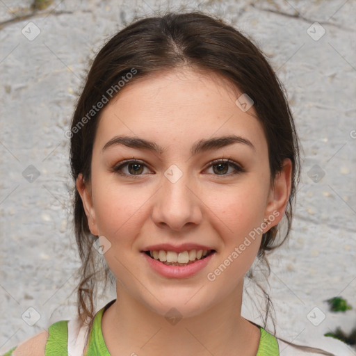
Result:
[[[145,252],[141,252],[145,259],[147,260],[149,266],[153,268],[157,273],[163,275],[163,277],[168,278],[187,278],[195,275],[200,270],[202,270],[215,254],[215,252],[209,254],[209,256],[204,259],[198,259],[193,264],[188,264],[187,266],[167,266],[166,264],[162,264],[156,259],[152,259]]]

